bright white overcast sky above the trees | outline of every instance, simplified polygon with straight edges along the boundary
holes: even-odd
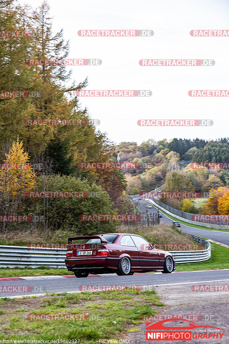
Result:
[[[36,8],[40,0],[27,0]],[[24,3],[24,1],[21,3]],[[194,29],[229,30],[225,0],[49,0],[54,32],[64,29],[69,58],[100,58],[72,66],[87,89],[149,89],[151,97],[81,97],[99,129],[119,143],[149,138],[227,137],[228,97],[190,97],[191,89],[229,89],[229,37],[192,37]],[[150,29],[152,37],[80,37],[78,30]],[[214,66],[142,67],[141,59],[213,59]],[[68,67],[67,67],[68,68]],[[138,119],[212,119],[212,127],[139,127]]]

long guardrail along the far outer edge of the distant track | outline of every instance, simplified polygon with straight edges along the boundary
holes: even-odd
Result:
[[[208,227],[208,228],[215,228],[215,229],[227,229],[229,230],[229,226],[226,226],[226,225],[215,225],[215,224],[212,224],[212,223],[205,223],[205,222],[200,222],[200,221],[192,221],[192,220],[189,220],[185,217],[181,217],[181,216],[178,216],[176,214],[174,214],[175,212],[180,212],[180,213],[184,213],[184,212],[181,212],[180,210],[177,210],[177,209],[173,209],[169,206],[167,206],[166,204],[163,204],[162,202],[158,201],[158,200],[151,200],[150,198],[146,198],[146,201],[152,203],[152,205],[156,205],[156,207],[158,207],[159,209],[162,209],[165,213],[181,220],[181,221],[184,221],[184,222],[187,222],[187,223],[191,223],[193,225],[199,225],[199,226],[203,226],[203,227]],[[173,213],[169,212],[166,207],[169,207],[171,211],[174,211]],[[190,216],[191,215],[196,215],[196,214],[191,214],[191,213],[184,213],[184,214],[189,214]]]

